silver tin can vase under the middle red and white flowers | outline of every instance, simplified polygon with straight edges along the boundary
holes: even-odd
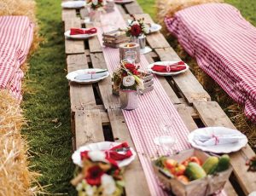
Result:
[[[135,110],[139,105],[138,94],[136,90],[119,90],[119,99],[121,108],[124,110]]]

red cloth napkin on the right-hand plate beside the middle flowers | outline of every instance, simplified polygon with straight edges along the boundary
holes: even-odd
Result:
[[[183,61],[179,61],[177,63],[173,63],[167,66],[154,64],[151,69],[154,72],[179,72],[186,69],[186,66]]]

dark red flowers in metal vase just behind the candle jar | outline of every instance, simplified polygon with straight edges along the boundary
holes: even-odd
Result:
[[[138,43],[140,44],[140,48],[144,49],[146,47],[146,34],[149,32],[149,27],[145,24],[144,18],[137,20],[131,14],[131,19],[126,30],[126,35],[131,37],[132,43]]]

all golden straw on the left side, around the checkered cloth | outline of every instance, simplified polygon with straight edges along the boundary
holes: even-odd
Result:
[[[1,15],[26,15],[34,24],[34,39],[30,55],[38,48],[38,25],[33,0],[1,0]],[[21,66],[23,72],[28,64]],[[35,195],[40,188],[37,185],[37,173],[28,167],[27,142],[20,135],[21,127],[26,124],[18,101],[8,90],[0,90],[0,195]],[[34,187],[32,187],[34,186]]]

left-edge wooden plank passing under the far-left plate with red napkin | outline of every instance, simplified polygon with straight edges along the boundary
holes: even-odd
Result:
[[[73,27],[81,27],[79,18],[71,18],[69,20],[65,20],[65,31]],[[65,51],[67,55],[84,54],[84,41],[67,39],[65,37]]]

